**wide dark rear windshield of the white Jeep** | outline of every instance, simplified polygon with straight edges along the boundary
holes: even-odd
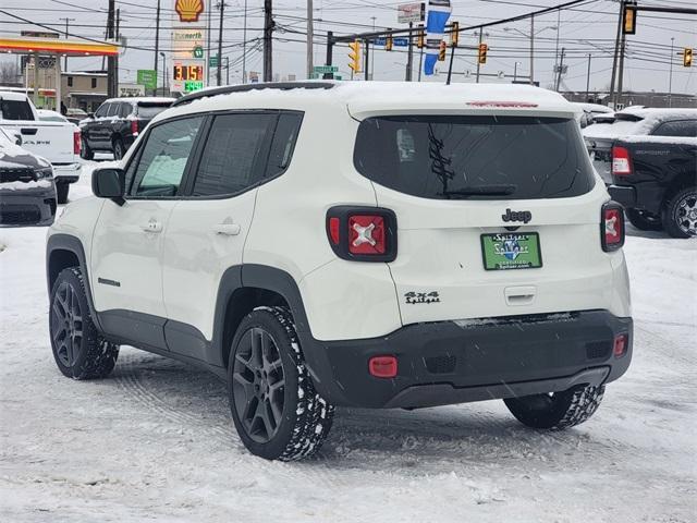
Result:
[[[354,165],[386,187],[425,198],[562,198],[594,172],[573,119],[380,117],[360,122]]]

